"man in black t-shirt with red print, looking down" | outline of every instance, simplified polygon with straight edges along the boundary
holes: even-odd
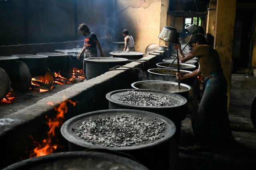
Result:
[[[85,58],[98,57],[97,46],[100,51],[101,57],[104,57],[101,49],[101,44],[93,32],[90,32],[89,27],[86,24],[79,24],[78,30],[85,36],[85,44],[82,51],[77,55],[77,59],[80,59],[81,55],[85,52]]]

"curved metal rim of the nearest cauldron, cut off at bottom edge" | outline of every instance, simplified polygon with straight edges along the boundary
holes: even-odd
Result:
[[[121,164],[126,165],[127,168],[131,168],[131,170],[148,170],[144,165],[140,164],[139,162],[136,162],[135,160],[131,160],[130,158],[126,158],[123,156],[119,156],[116,154],[110,154],[105,152],[93,152],[93,151],[71,151],[71,152],[58,152],[58,153],[52,153],[45,156],[39,156],[34,158],[29,158],[26,160],[22,160],[20,162],[16,162],[10,166],[7,166],[3,170],[14,170],[14,169],[24,169],[24,168],[33,168],[34,165],[40,166],[41,164],[52,164],[54,166],[55,162],[57,161],[64,161],[64,160],[70,160],[70,161],[83,161],[83,160],[99,160],[102,159],[103,161],[109,161],[113,162],[113,164]],[[78,161],[77,161],[78,162]],[[59,164],[60,164],[59,163]],[[69,164],[70,162],[67,162]],[[74,162],[75,163],[75,162]],[[50,168],[50,167],[49,167]],[[53,168],[53,167],[52,167]],[[58,167],[63,168],[63,167]],[[74,167],[73,167],[74,168]],[[93,168],[93,167],[91,167]]]

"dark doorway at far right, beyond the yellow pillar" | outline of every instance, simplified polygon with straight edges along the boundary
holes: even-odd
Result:
[[[237,10],[233,44],[233,71],[250,67],[252,56],[253,10]]]

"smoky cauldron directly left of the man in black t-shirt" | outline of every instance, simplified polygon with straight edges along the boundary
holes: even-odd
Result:
[[[83,69],[83,58],[84,54],[81,55],[81,59],[77,59],[77,55],[82,51],[80,49],[55,49],[54,51],[60,52],[60,53],[67,53],[72,60],[73,67],[76,67],[77,69]]]

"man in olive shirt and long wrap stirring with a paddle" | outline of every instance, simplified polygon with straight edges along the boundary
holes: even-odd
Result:
[[[199,68],[181,75],[177,79],[186,79],[202,74],[204,77],[203,95],[194,119],[195,144],[187,146],[187,150],[208,148],[217,140],[233,140],[227,112],[227,81],[223,75],[218,52],[207,45],[202,34],[192,35],[189,45],[193,50],[187,54],[181,51],[180,43],[175,43],[179,60],[184,63],[194,57],[198,58]],[[193,121],[192,121],[193,127]]]

